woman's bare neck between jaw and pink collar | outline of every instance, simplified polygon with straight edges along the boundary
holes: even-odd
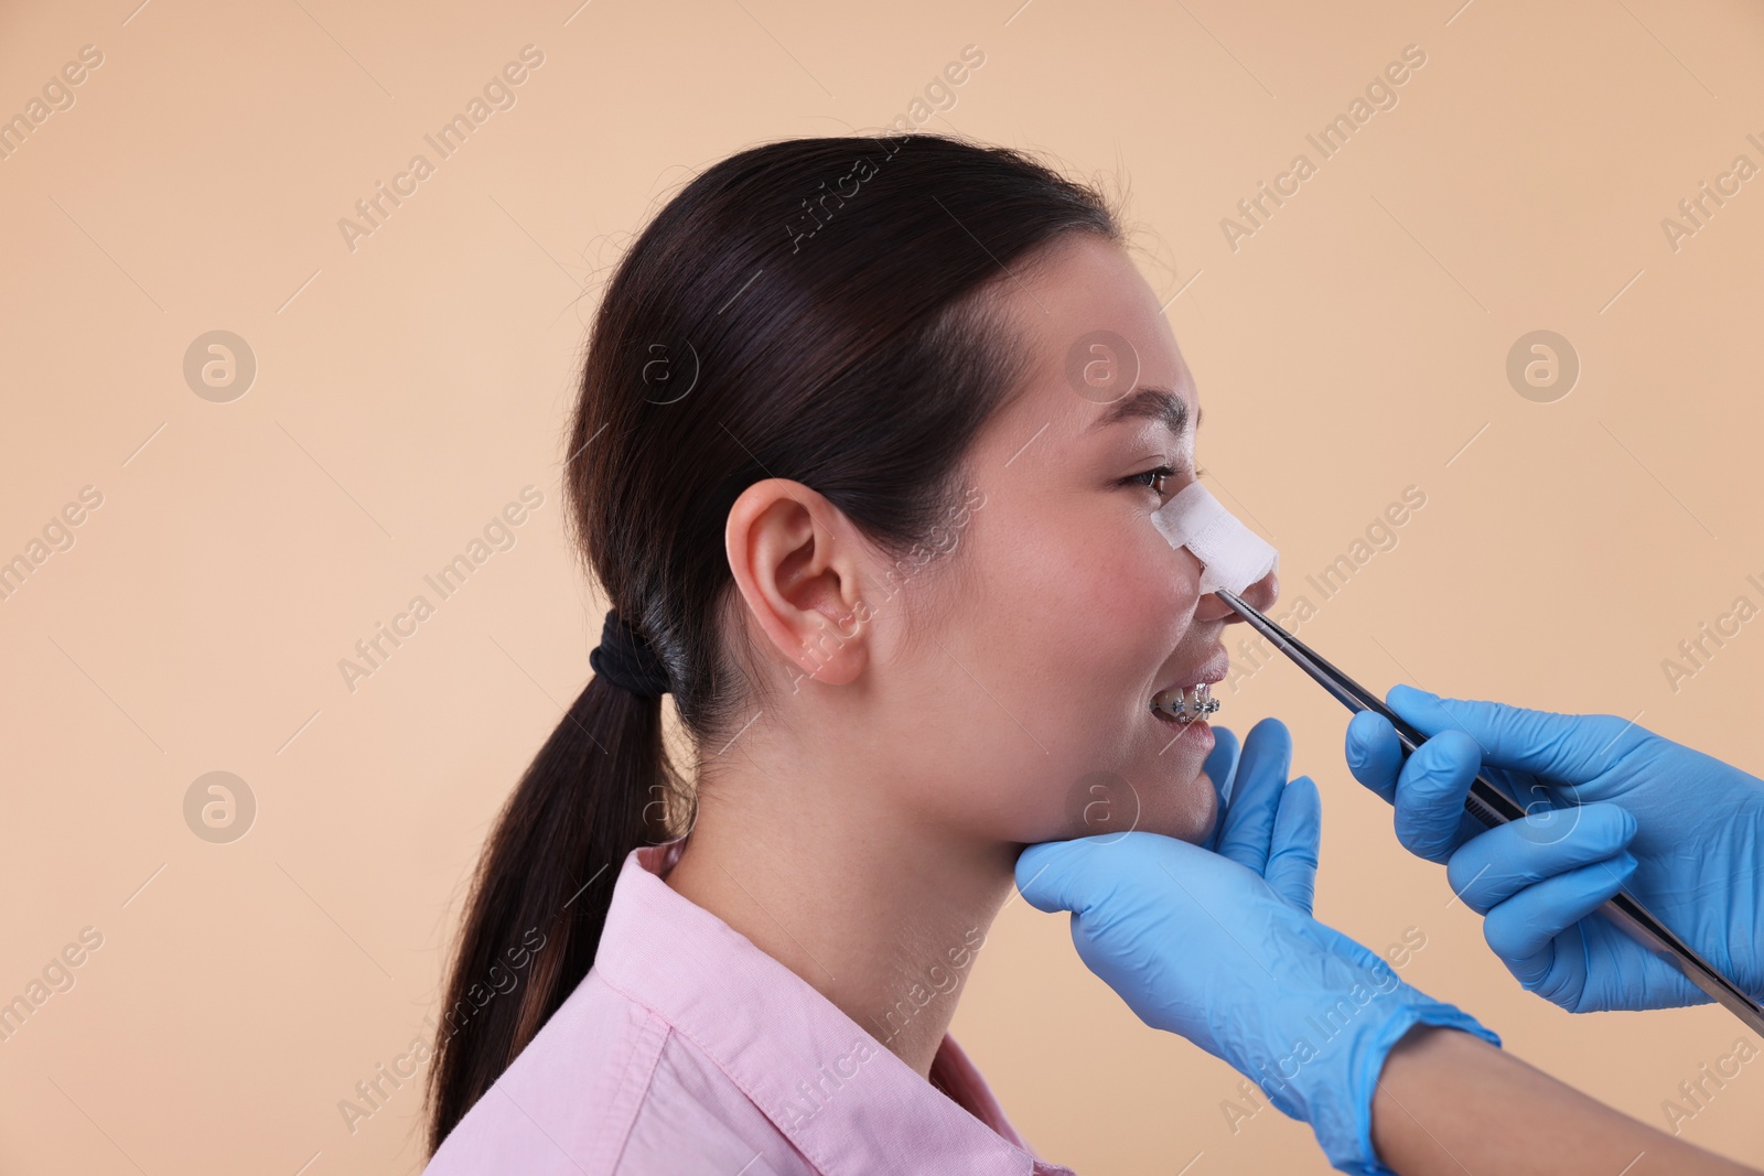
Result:
[[[1020,846],[880,811],[861,778],[739,776],[700,790],[667,883],[928,1077]]]

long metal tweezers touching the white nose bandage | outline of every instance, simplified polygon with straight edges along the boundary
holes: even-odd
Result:
[[[1244,621],[1249,621],[1258,633],[1267,636],[1282,654],[1291,658],[1300,670],[1309,674],[1323,689],[1335,695],[1344,707],[1355,714],[1360,711],[1376,711],[1378,714],[1383,714],[1390,725],[1397,728],[1397,741],[1402,744],[1404,751],[1415,751],[1427,741],[1425,735],[1402,721],[1395,711],[1379,702],[1369,689],[1319,658],[1304,642],[1277,626],[1274,621],[1268,621],[1268,617],[1261,615],[1259,610],[1244,603],[1244,598],[1237,592],[1217,589],[1217,594],[1219,599],[1230,605],[1240,617],[1244,617]],[[1476,779],[1469,785],[1469,795],[1464,797],[1464,809],[1491,829],[1505,822],[1519,820],[1526,815],[1524,808],[1512,800],[1482,772],[1478,772]],[[1746,996],[1739,986],[1709,966],[1709,961],[1672,934],[1672,929],[1651,915],[1646,906],[1623,890],[1618,890],[1609,903],[1598,908],[1598,913],[1623,927],[1642,947],[1683,971],[1685,979],[1715,998],[1730,1014],[1739,1017],[1753,1033],[1764,1033],[1764,1009],[1759,1009],[1757,1001]]]

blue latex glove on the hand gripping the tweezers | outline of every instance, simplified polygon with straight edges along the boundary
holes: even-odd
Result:
[[[1484,936],[1533,993],[1570,1012],[1708,1003],[1603,917],[1619,887],[1753,998],[1764,994],[1764,781],[1611,714],[1551,714],[1394,686],[1429,735],[1406,762],[1390,723],[1348,723],[1348,767],[1395,804],[1397,839],[1446,862]],[[1529,816],[1462,811],[1482,767]],[[1568,808],[1568,806],[1579,808]]]

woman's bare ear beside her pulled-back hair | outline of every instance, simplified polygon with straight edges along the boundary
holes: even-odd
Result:
[[[841,686],[870,654],[861,536],[801,481],[767,478],[729,508],[723,547],[736,587],[799,675]]]

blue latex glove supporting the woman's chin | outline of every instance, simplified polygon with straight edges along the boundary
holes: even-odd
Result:
[[[1073,912],[1078,956],[1141,1021],[1237,1067],[1311,1123],[1337,1169],[1385,1174],[1372,1091],[1390,1047],[1420,1023],[1499,1038],[1311,917],[1321,802],[1309,778],[1286,783],[1286,726],[1258,723],[1242,758],[1231,732],[1215,733],[1207,772],[1224,816],[1207,845],[1046,841],[1018,857],[1018,889]]]

